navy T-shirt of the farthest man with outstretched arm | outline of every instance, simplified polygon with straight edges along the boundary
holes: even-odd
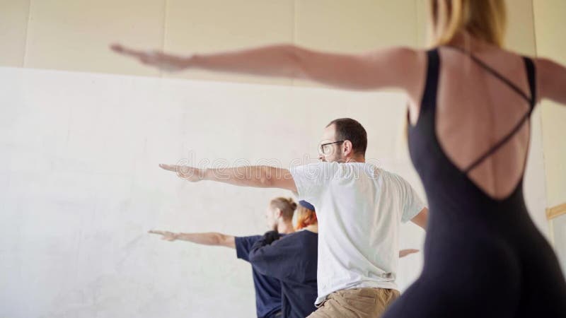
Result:
[[[235,237],[236,256],[250,261],[248,254],[261,235]],[[262,275],[252,267],[253,286],[255,288],[255,310],[258,318],[268,318],[281,311],[281,283],[277,278]]]

